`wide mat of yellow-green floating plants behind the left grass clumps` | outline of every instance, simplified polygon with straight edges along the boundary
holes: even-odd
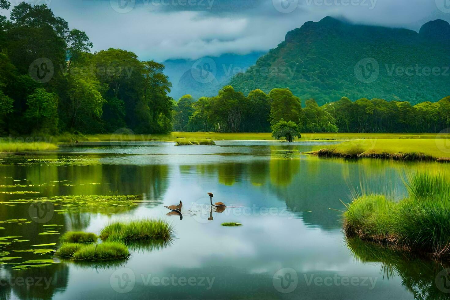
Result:
[[[142,195],[123,195],[123,196],[106,196],[106,195],[78,195],[78,196],[55,196],[40,197],[35,199],[19,199],[2,203],[33,203],[33,202],[50,202],[54,206],[66,206],[61,210],[54,210],[58,214],[67,214],[71,210],[79,213],[94,210],[105,214],[114,214],[128,210],[130,207],[137,206],[142,201]],[[79,207],[79,208],[77,208]]]

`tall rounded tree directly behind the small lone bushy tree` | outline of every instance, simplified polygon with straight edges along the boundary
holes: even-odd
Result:
[[[300,99],[294,96],[289,89],[273,89],[270,91],[269,97],[272,99],[270,125],[275,125],[281,119],[301,125],[302,104]]]

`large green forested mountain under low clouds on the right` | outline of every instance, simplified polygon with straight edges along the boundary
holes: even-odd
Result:
[[[450,24],[443,20],[418,33],[326,17],[289,31],[230,85],[244,94],[288,87],[320,105],[343,96],[436,102],[450,94],[449,46]]]

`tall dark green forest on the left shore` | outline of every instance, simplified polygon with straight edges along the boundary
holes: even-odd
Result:
[[[170,131],[164,66],[121,49],[91,54],[92,47],[45,4],[22,2],[9,20],[0,16],[0,134]]]

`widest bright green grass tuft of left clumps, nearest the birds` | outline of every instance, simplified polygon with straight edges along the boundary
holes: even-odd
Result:
[[[171,240],[171,224],[160,219],[142,219],[130,223],[115,222],[100,233],[103,241],[135,242],[146,240]]]

